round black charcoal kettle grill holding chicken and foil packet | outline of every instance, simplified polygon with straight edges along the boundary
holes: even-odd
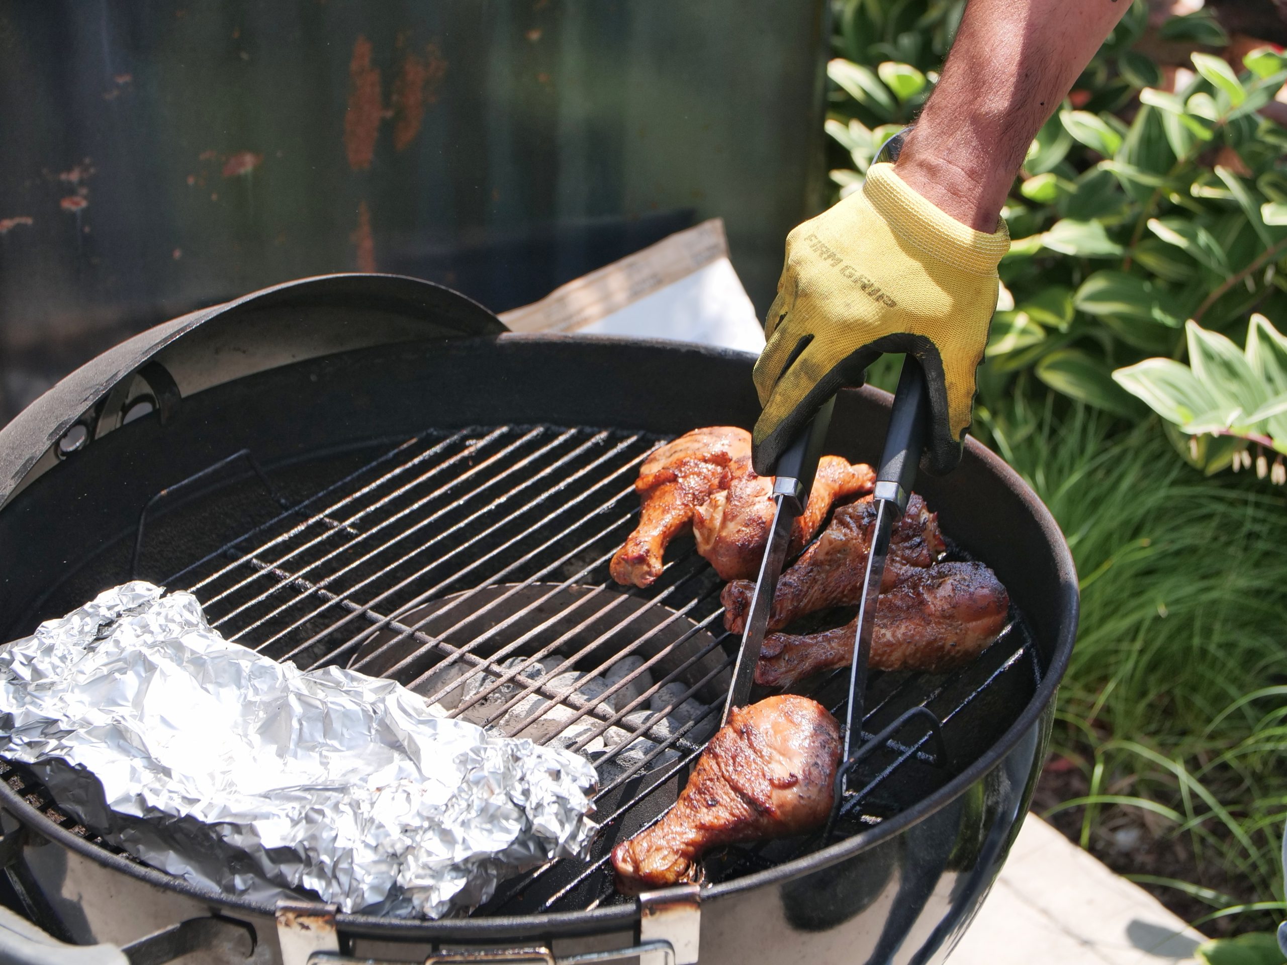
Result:
[[[708,854],[700,884],[613,887],[613,844],[682,789],[737,641],[691,540],[646,591],[607,561],[653,448],[754,422],[752,364],[514,335],[438,286],[329,275],[158,326],[59,382],[0,431],[0,639],[130,578],[192,589],[224,636],[273,657],[454,694],[453,713],[507,733],[574,733],[604,832],[589,861],[519,875],[465,917],[264,906],[133,859],[4,764],[0,854],[33,924],[0,928],[0,961],[45,941],[37,926],[85,946],[50,944],[49,961],[95,964],[942,960],[1026,813],[1077,620],[1054,520],[974,441],[918,489],[952,552],[1009,589],[1000,639],[952,674],[871,674],[831,836]],[[887,418],[887,394],[840,392],[826,452],[874,461]],[[551,686],[566,673],[606,687]],[[808,692],[840,715],[847,683]]]

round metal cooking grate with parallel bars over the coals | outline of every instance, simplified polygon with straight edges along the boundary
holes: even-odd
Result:
[[[248,459],[255,472],[239,485],[272,494],[282,511],[160,582],[189,587],[225,637],[275,659],[391,677],[452,715],[587,754],[605,825],[592,859],[528,872],[475,915],[620,901],[609,852],[673,803],[718,721],[737,645],[719,620],[722,583],[691,540],[672,546],[647,591],[607,573],[638,515],[638,466],[662,441],[555,426],[431,431],[320,492],[313,482],[302,499],[278,495],[238,453],[163,495]],[[151,558],[151,521],[190,515],[192,503],[148,503],[136,567]],[[1018,618],[956,674],[873,674],[864,737],[923,706],[941,722],[946,754],[928,754],[931,733],[909,721],[851,777],[839,832],[888,818],[950,780],[1000,736],[1040,677]],[[839,714],[846,685],[835,672],[811,695]],[[0,777],[51,807],[18,772]],[[726,880],[819,844],[815,835],[734,847],[708,857],[705,872]]]

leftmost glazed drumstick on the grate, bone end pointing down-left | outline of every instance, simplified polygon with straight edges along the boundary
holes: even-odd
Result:
[[[613,557],[613,579],[653,585],[667,543],[692,525],[696,507],[727,489],[728,467],[741,457],[750,458],[750,432],[736,426],[695,428],[649,455],[634,480],[640,522]]]

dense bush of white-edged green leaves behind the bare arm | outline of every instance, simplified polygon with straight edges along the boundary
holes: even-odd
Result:
[[[842,196],[928,98],[963,8],[838,5],[826,131]],[[1135,0],[1028,151],[1003,211],[1014,242],[979,377],[985,404],[1032,372],[1030,391],[1136,422],[1148,408],[1113,372],[1184,359],[1187,320],[1238,340],[1254,311],[1287,320],[1287,131],[1257,113],[1287,81],[1287,58],[1260,48],[1236,68],[1208,51],[1228,42],[1210,14],[1175,17],[1162,39],[1206,49],[1165,90],[1163,71],[1136,49],[1147,28],[1148,5]],[[1207,471],[1250,459],[1237,434],[1169,437]]]

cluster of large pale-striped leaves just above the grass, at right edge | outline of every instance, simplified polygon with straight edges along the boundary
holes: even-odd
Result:
[[[1207,472],[1232,466],[1287,482],[1287,337],[1256,314],[1239,349],[1219,332],[1185,324],[1189,365],[1145,359],[1113,380],[1189,436],[1189,459]],[[1265,449],[1277,453],[1273,467]]]

